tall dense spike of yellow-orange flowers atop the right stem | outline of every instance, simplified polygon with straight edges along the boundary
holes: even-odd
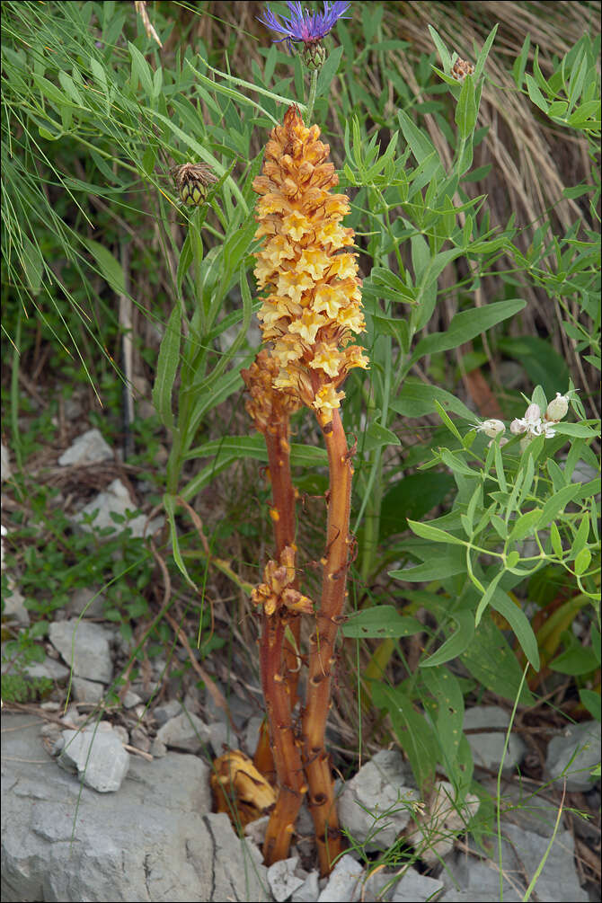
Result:
[[[319,136],[297,107],[270,135],[254,182],[261,195],[255,235],[266,237],[255,276],[267,291],[259,320],[279,368],[273,385],[328,424],[345,397],[337,389],[348,371],[368,361],[358,345],[349,346],[351,333],[365,330],[357,255],[348,249],[354,232],[340,222],[349,201],[330,193],[338,176]]]

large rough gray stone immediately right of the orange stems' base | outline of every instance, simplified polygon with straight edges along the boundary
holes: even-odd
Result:
[[[338,798],[338,817],[357,842],[367,850],[386,850],[410,821],[412,803],[418,799],[404,768],[401,753],[383,749],[347,781]]]

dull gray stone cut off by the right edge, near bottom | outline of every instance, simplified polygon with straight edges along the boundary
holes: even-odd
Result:
[[[560,781],[566,779],[567,790],[591,790],[591,771],[600,762],[600,723],[584,721],[571,724],[560,737],[548,744],[546,772]]]

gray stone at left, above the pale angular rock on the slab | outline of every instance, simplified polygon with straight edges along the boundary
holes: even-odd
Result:
[[[101,624],[91,624],[77,618],[54,621],[48,636],[63,661],[73,668],[74,675],[103,684],[111,682],[110,633]]]

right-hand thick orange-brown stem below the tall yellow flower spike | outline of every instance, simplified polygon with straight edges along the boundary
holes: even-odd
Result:
[[[310,787],[310,812],[316,831],[320,872],[328,875],[342,852],[337,807],[325,749],[335,641],[347,598],[351,454],[340,414],[335,409],[329,424],[320,424],[329,454],[330,495],[326,555],[322,560],[322,597],[316,630],[310,638],[307,703],[303,712],[302,742],[305,774]]]

